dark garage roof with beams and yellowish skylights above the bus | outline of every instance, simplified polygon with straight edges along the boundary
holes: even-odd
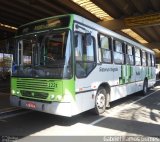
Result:
[[[22,24],[75,13],[154,49],[160,57],[159,0],[0,0],[0,40]]]

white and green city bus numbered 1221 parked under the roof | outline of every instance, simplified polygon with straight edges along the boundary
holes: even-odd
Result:
[[[11,76],[13,106],[71,117],[156,82],[152,50],[75,14],[18,28]]]

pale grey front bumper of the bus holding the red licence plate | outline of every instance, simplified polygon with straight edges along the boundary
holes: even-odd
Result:
[[[72,116],[72,109],[71,103],[69,102],[52,102],[52,103],[45,103],[45,102],[37,102],[37,101],[30,101],[21,99],[17,96],[10,96],[10,104],[17,107],[22,107],[26,109],[32,109],[36,111],[46,112],[55,115],[61,116]]]

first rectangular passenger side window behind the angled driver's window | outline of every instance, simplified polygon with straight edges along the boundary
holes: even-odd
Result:
[[[104,63],[112,62],[111,39],[104,35],[99,35],[99,47],[101,49],[101,58]]]

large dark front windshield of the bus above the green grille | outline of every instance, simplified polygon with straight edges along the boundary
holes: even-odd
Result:
[[[69,31],[48,31],[17,39],[12,76],[70,78]]]

